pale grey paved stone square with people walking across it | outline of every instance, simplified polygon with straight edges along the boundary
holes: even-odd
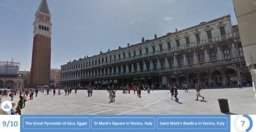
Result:
[[[75,91],[75,90],[74,90]],[[72,91],[72,92],[74,92]],[[64,91],[62,90],[62,93]],[[77,95],[46,95],[39,93],[38,97],[26,102],[22,114],[26,115],[216,115],[222,114],[218,105],[218,98],[228,98],[229,114],[256,114],[256,98],[252,87],[237,89],[215,88],[203,89],[201,95],[196,99],[196,90],[179,90],[179,102],[172,101],[169,90],[154,90],[151,94],[142,90],[142,98],[137,94],[123,94],[116,92],[115,102],[109,102],[109,94],[106,90],[94,90],[93,96],[88,97],[87,90],[78,90]],[[35,95],[34,95],[35,96]],[[28,98],[29,99],[29,98]],[[10,97],[3,97],[3,101]],[[14,97],[17,102],[19,98]]]

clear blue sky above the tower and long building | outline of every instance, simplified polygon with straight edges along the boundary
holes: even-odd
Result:
[[[0,61],[31,68],[33,22],[41,0],[0,0]],[[231,15],[232,0],[47,0],[52,15],[51,68]]]

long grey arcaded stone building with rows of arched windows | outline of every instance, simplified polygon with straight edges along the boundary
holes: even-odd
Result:
[[[60,87],[249,83],[237,25],[230,15],[138,44],[61,65]]]

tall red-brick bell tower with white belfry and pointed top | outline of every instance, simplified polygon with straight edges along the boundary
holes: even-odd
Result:
[[[50,85],[51,14],[46,0],[41,0],[35,13],[30,88]]]

